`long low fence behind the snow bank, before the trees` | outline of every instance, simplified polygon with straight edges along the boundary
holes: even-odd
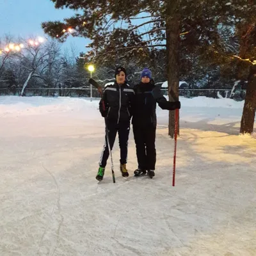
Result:
[[[168,95],[168,89],[161,89],[164,95]],[[205,96],[209,98],[230,97],[231,89],[179,89],[179,95],[187,98]],[[246,90],[236,90],[234,99],[244,100]],[[20,95],[21,88],[10,90],[0,88],[0,95]],[[24,96],[47,97],[90,97],[90,88],[26,88]],[[99,97],[99,92],[93,88],[92,97]]]

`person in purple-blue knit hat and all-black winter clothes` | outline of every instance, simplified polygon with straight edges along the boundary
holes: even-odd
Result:
[[[152,178],[156,166],[156,102],[160,108],[168,110],[180,109],[180,102],[166,100],[160,88],[155,86],[148,68],[141,72],[141,82],[134,86],[134,92],[132,127],[138,160],[138,169],[134,171],[134,175],[147,173]]]

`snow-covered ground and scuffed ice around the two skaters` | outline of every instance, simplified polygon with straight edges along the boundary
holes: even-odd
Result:
[[[157,170],[134,178],[104,142],[99,100],[0,97],[0,255],[256,255],[256,140],[239,135],[243,102],[181,98],[176,186],[168,111],[157,108]],[[256,127],[256,124],[255,124]],[[255,131],[256,132],[256,131]]]

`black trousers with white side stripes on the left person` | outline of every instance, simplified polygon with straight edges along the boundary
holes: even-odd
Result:
[[[130,132],[130,122],[119,122],[116,124],[116,121],[111,122],[107,121],[108,127],[108,134],[109,134],[109,145],[112,150],[113,145],[115,143],[116,133],[118,132],[118,140],[119,140],[119,147],[120,147],[120,164],[127,163],[127,148],[128,148],[128,139],[129,139],[129,132]],[[105,167],[109,157],[109,150],[108,150],[108,142],[107,142],[107,135],[105,135],[105,144],[102,150],[102,154],[100,156],[100,167]]]

